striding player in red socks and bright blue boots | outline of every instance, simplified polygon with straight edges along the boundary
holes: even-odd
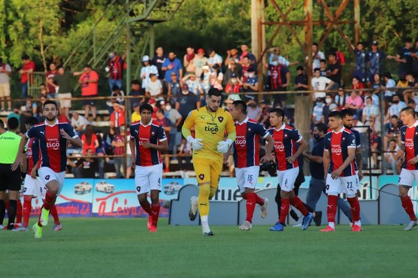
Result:
[[[274,140],[277,177],[281,186],[280,218],[279,222],[270,228],[270,231],[284,231],[290,205],[295,206],[304,215],[302,229],[305,230],[311,224],[314,215],[307,211],[302,201],[293,192],[293,188],[295,187],[297,174],[299,174],[297,156],[300,156],[307,148],[307,142],[304,141],[297,129],[284,123],[284,112],[280,108],[274,108],[270,111],[270,125],[272,128],[268,131]],[[297,150],[296,143],[300,145]]]

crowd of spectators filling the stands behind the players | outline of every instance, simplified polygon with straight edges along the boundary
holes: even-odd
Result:
[[[95,126],[98,121],[98,109],[92,97],[104,96],[99,94],[98,72],[86,65],[82,72],[71,72],[69,69],[49,64],[49,71],[45,74],[45,83],[40,85],[40,99],[37,104],[28,96],[28,83],[31,83],[31,73],[35,72],[36,65],[26,55],[22,56],[22,70],[20,70],[22,83],[22,97],[26,99],[24,105],[11,106],[9,78],[12,68],[0,59],[0,102],[1,111],[9,111],[8,117],[17,117],[24,122],[25,117],[34,115],[38,120],[44,119],[39,105],[49,98],[59,99],[60,121],[71,122],[77,132],[82,136],[84,148],[80,154],[83,157],[69,158],[68,165],[72,173],[80,175],[97,172],[103,176],[105,168],[113,163],[116,168],[116,177],[123,177],[130,169],[123,170],[129,134],[125,126],[131,122],[141,120],[139,106],[148,102],[155,109],[153,121],[161,124],[169,138],[170,150],[165,156],[166,171],[170,170],[177,161],[180,170],[190,168],[190,146],[181,136],[181,126],[189,111],[206,105],[206,94],[210,88],[218,88],[225,92],[224,108],[228,109],[236,99],[247,103],[247,115],[268,126],[268,111],[272,107],[285,109],[286,116],[291,118],[290,110],[286,109],[288,95],[264,95],[258,101],[256,92],[259,90],[286,92],[288,88],[297,91],[306,91],[311,85],[314,93],[311,94],[314,108],[311,114],[311,126],[318,122],[327,122],[331,111],[350,109],[354,113],[354,126],[366,135],[373,154],[370,167],[378,167],[378,153],[380,149],[387,149],[382,156],[382,163],[397,172],[399,161],[390,155],[396,152],[400,144],[398,120],[399,111],[405,106],[412,106],[418,111],[418,42],[412,45],[412,40],[405,40],[405,46],[399,49],[396,55],[387,55],[373,40],[369,50],[364,42],[352,46],[355,54],[355,67],[352,76],[343,75],[346,65],[345,57],[338,48],[332,48],[328,53],[319,49],[318,44],[312,45],[313,50],[313,78],[309,80],[305,61],[289,61],[280,55],[279,47],[268,49],[263,58],[262,65],[267,71],[264,76],[264,88],[259,88],[258,68],[254,54],[251,54],[247,45],[240,49],[230,49],[226,57],[217,54],[213,49],[193,49],[187,47],[185,55],[177,57],[174,51],[164,53],[162,47],[155,50],[151,59],[146,55],[141,58],[143,66],[139,74],[140,79],[131,82],[130,92],[123,92],[123,73],[125,70],[124,56],[112,52],[109,54],[108,72],[109,99],[106,108],[109,113],[107,129]],[[385,59],[392,59],[398,63],[398,80],[390,72],[384,71]],[[290,67],[296,67],[291,71]],[[291,76],[296,72],[296,76]],[[395,75],[395,74],[394,74]],[[79,115],[73,109],[70,98],[73,96],[72,79],[77,78],[81,87],[82,105],[84,115]],[[350,79],[350,83],[345,80]],[[291,85],[293,83],[293,85]],[[417,89],[415,89],[417,88]],[[352,89],[347,92],[345,89]],[[383,97],[379,92],[383,90]],[[242,94],[239,94],[242,93]],[[137,98],[125,99],[124,96]],[[380,103],[383,99],[384,104]],[[72,112],[72,113],[71,113]],[[130,115],[130,117],[125,117]],[[380,142],[380,130],[385,124],[384,138]],[[24,126],[24,125],[22,125]],[[24,130],[22,130],[24,132]],[[313,140],[313,138],[311,138]],[[383,148],[380,146],[383,144]],[[74,151],[77,153],[77,151]],[[109,159],[95,160],[93,156],[115,155]],[[86,157],[84,157],[86,156]],[[127,156],[128,165],[130,163]],[[129,167],[128,167],[129,168]],[[89,172],[90,171],[90,172]]]

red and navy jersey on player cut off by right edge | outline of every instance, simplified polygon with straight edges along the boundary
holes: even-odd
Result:
[[[401,127],[401,142],[405,144],[405,162],[403,168],[406,170],[418,170],[418,163],[408,163],[411,158],[418,156],[418,121],[412,126]]]

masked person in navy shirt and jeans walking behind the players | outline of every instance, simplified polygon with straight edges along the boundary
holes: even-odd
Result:
[[[322,122],[315,124],[314,127],[314,139],[316,144],[312,149],[311,154],[303,152],[305,159],[309,161],[309,171],[311,172],[311,181],[309,181],[309,190],[307,194],[306,204],[310,208],[315,210],[316,204],[320,198],[321,193],[325,193],[325,179],[324,179],[324,165],[323,165],[323,153],[324,153],[324,137],[327,133],[328,126]],[[350,207],[340,197],[336,202],[337,206],[341,208],[341,211],[352,222]],[[315,212],[314,222],[316,226],[320,226],[320,220],[322,218],[322,211]]]

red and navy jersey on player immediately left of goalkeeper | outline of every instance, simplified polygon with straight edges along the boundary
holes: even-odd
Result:
[[[136,165],[152,166],[161,163],[161,152],[157,149],[146,149],[144,144],[159,145],[160,142],[167,140],[166,133],[162,126],[153,124],[151,121],[146,126],[142,122],[134,122],[130,126],[130,136],[135,139],[135,147],[137,149]]]

